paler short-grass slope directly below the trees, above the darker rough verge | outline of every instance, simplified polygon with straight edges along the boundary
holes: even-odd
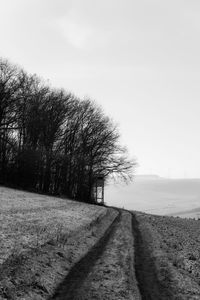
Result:
[[[0,187],[0,263],[50,240],[65,244],[104,213],[103,207]]]

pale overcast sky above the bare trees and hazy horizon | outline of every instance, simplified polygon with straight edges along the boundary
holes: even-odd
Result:
[[[0,0],[0,56],[119,124],[137,174],[200,177],[199,0]]]

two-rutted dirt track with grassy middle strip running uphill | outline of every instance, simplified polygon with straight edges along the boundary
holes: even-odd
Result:
[[[121,211],[105,235],[57,288],[56,300],[173,299],[157,279],[134,214]]]

